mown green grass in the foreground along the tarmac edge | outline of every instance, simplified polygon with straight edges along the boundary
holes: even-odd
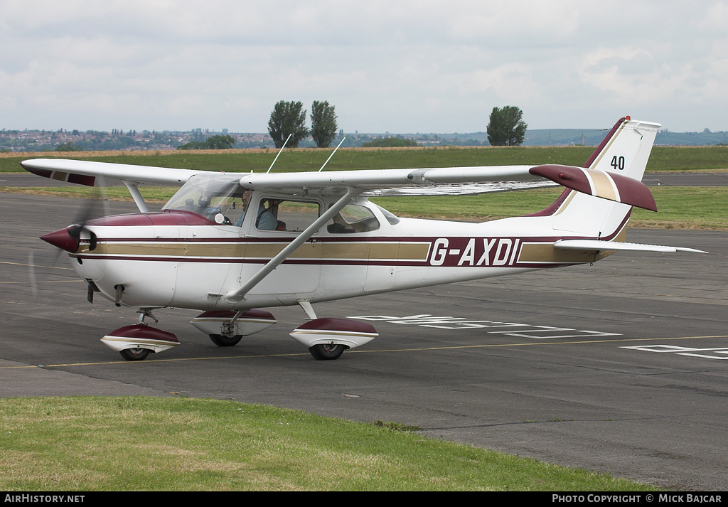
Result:
[[[0,490],[654,490],[606,474],[271,406],[0,400]]]

